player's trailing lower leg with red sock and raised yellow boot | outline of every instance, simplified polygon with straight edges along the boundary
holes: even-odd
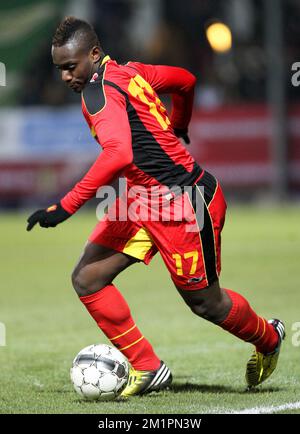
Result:
[[[241,294],[230,289],[219,290],[218,282],[204,290],[179,292],[194,313],[255,346],[246,368],[249,388],[259,385],[272,374],[285,337],[281,321],[266,321],[256,314]]]

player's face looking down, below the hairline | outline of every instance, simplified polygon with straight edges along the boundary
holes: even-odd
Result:
[[[61,71],[62,80],[74,92],[82,91],[100,58],[101,54],[97,48],[87,52],[76,43],[52,47],[53,63]]]

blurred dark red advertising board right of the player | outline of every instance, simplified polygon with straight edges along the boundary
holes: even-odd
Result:
[[[300,106],[288,114],[289,183],[300,188]],[[273,179],[271,123],[265,105],[198,110],[190,151],[229,189],[269,187]]]

